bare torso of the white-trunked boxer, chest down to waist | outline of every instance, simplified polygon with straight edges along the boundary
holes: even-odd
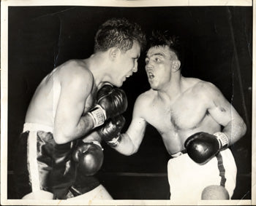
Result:
[[[189,135],[204,130],[209,122],[214,124],[206,103],[190,93],[181,95],[173,103],[156,101],[148,111],[147,122],[158,130],[169,154],[183,150]]]

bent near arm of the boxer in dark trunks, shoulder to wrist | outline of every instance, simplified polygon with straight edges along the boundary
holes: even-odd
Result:
[[[93,127],[89,114],[83,115],[93,87],[93,76],[84,68],[64,68],[60,74],[61,94],[56,109],[53,136],[56,143],[67,143],[86,135]]]

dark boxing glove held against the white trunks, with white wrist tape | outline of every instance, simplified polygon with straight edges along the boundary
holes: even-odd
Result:
[[[206,132],[197,132],[191,135],[184,143],[189,157],[200,165],[206,164],[219,150],[227,148],[228,139],[222,132],[214,135]]]

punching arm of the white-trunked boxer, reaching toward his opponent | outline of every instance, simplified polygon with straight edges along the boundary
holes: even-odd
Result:
[[[143,140],[146,130],[146,120],[143,118],[146,106],[144,106],[144,98],[140,97],[136,100],[132,122],[127,132],[121,134],[121,142],[115,147],[116,151],[124,155],[132,155],[138,151],[140,143]]]

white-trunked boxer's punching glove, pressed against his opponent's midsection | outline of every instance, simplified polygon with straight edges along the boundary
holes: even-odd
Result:
[[[124,116],[116,116],[109,119],[108,122],[97,132],[102,140],[105,140],[109,146],[116,147],[121,142],[121,130],[124,127]]]

